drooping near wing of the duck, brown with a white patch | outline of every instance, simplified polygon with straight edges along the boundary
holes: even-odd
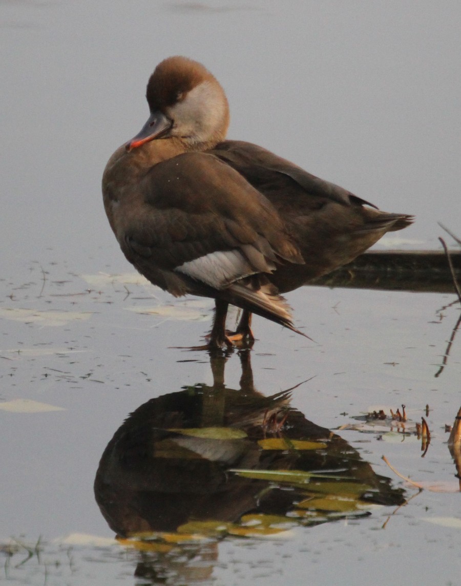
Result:
[[[125,256],[154,284],[292,327],[264,274],[303,258],[274,206],[226,163],[197,152],[175,156],[106,207]]]

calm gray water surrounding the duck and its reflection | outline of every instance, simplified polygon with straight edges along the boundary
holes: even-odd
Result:
[[[130,412],[212,379],[206,355],[171,348],[199,342],[211,302],[136,280],[101,202],[105,162],[144,124],[156,63],[185,54],[209,67],[228,94],[231,138],[416,215],[381,246],[439,248],[438,221],[460,233],[460,22],[458,2],[0,1],[0,407],[12,409],[0,409],[0,544],[13,554],[3,577],[155,583],[134,577],[137,551],[111,541],[93,481]],[[396,507],[212,543],[169,583],[457,584],[461,502],[445,424],[460,406],[460,338],[435,377],[455,295],[303,288],[289,301],[316,343],[256,319],[255,386],[273,394],[314,377],[292,405],[326,428],[402,403],[420,421],[429,404],[424,458],[414,436],[337,431],[395,487],[407,485],[383,454],[429,489],[385,529]],[[128,311],[145,307],[157,314]],[[239,378],[233,355],[226,386]]]

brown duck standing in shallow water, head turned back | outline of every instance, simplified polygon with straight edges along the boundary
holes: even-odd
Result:
[[[252,314],[309,338],[284,294],[413,221],[265,148],[226,139],[226,94],[199,62],[163,60],[146,100],[144,127],[105,166],[105,212],[127,260],[154,285],[214,299],[200,347],[252,344]],[[242,310],[235,332],[226,330],[229,305]]]

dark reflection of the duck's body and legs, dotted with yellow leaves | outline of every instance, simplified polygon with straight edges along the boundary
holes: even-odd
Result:
[[[240,390],[224,386],[225,359],[213,358],[213,386],[153,398],[115,432],[95,479],[112,530],[266,534],[402,502],[346,441],[289,406],[289,390],[256,391],[248,352],[240,357]]]

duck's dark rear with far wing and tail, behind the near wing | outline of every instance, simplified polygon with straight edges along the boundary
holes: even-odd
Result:
[[[281,292],[350,263],[387,231],[412,222],[412,216],[378,210],[257,145],[225,141],[210,152],[267,197],[298,243],[305,264],[281,267],[270,277]]]

